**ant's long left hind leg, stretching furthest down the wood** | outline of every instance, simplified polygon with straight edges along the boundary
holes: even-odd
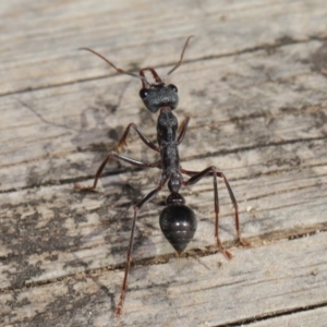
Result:
[[[121,314],[123,302],[124,302],[124,299],[125,299],[125,292],[128,290],[128,276],[129,276],[129,271],[130,271],[130,267],[131,267],[131,261],[132,261],[132,255],[131,254],[132,254],[132,250],[133,250],[134,231],[135,231],[136,218],[137,218],[138,210],[143,207],[144,204],[149,202],[154,196],[156,196],[159,193],[159,191],[166,184],[167,180],[168,180],[167,175],[165,178],[161,178],[161,181],[160,181],[159,185],[155,190],[153,190],[150,193],[148,193],[145,197],[143,197],[143,199],[141,199],[134,206],[134,217],[133,217],[132,231],[131,231],[131,237],[130,237],[130,244],[129,244],[128,255],[126,255],[126,266],[125,266],[124,279],[123,279],[123,283],[122,283],[122,287],[121,287],[119,303],[118,303],[118,306],[117,306],[117,310],[116,310],[116,316],[120,316],[120,314]]]

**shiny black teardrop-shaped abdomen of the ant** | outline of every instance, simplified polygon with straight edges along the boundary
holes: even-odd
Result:
[[[168,205],[160,214],[160,228],[178,253],[182,253],[196,231],[194,211],[184,204]]]

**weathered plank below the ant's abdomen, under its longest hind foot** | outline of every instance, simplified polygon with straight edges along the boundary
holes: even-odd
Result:
[[[122,272],[98,270],[75,275],[19,293],[0,294],[1,323],[144,326],[146,322],[148,326],[226,326],[238,322],[241,325],[249,317],[255,322],[290,314],[299,307],[303,308],[303,316],[306,306],[326,303],[326,246],[325,233],[317,233],[267,246],[239,249],[232,261],[215,254],[199,257],[199,262],[174,258],[161,265],[136,266],[120,319],[113,318],[113,308]]]

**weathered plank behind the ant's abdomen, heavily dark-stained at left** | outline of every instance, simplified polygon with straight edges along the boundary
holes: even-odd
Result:
[[[326,230],[326,173],[311,169],[298,173],[240,181],[233,184],[243,237],[253,245]],[[2,196],[0,288],[47,282],[86,270],[124,264],[130,238],[133,186],[119,178],[106,179],[105,194],[78,194],[71,186],[48,186]],[[318,185],[318,186],[317,186]],[[152,186],[146,186],[144,193]],[[220,235],[228,246],[234,240],[233,211],[227,191],[220,192]],[[165,192],[165,195],[167,192]],[[186,203],[195,209],[198,229],[189,249],[215,244],[213,186],[202,183]],[[172,253],[160,232],[158,216],[164,201],[140,213],[135,261]],[[262,239],[262,240],[261,240]],[[232,250],[233,252],[233,250]]]

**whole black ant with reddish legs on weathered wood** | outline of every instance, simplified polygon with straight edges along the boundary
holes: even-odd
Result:
[[[187,44],[190,41],[190,36],[186,39],[186,43],[183,47],[180,61],[165,75],[161,80],[156,71],[153,68],[146,68],[140,71],[140,75],[125,72],[122,69],[117,68],[113,63],[111,63],[108,59],[99,55],[98,52],[89,49],[89,48],[82,48],[84,50],[90,51],[96,56],[104,59],[108,64],[110,64],[118,73],[128,74],[133,77],[137,77],[142,81],[142,88],[140,90],[140,97],[142,98],[145,107],[150,112],[159,111],[159,117],[157,121],[157,141],[158,145],[155,145],[152,141],[149,141],[137,128],[136,124],[130,123],[122,135],[121,140],[119,141],[117,153],[110,153],[107,158],[100,165],[94,180],[93,186],[89,187],[82,187],[78,184],[75,185],[75,189],[82,191],[93,191],[96,185],[97,181],[101,175],[101,172],[107,165],[107,162],[111,158],[120,159],[126,161],[133,166],[137,166],[141,168],[159,168],[161,170],[161,177],[158,186],[149,192],[143,199],[141,199],[134,206],[134,217],[132,223],[132,231],[130,238],[130,244],[128,249],[126,255],[126,266],[125,266],[125,274],[121,289],[120,301],[116,311],[116,315],[119,316],[122,312],[122,306],[125,298],[125,291],[128,288],[128,275],[130,270],[130,265],[132,261],[132,249],[133,249],[133,239],[134,239],[134,231],[135,231],[135,223],[137,218],[138,210],[143,207],[144,204],[149,202],[154,196],[156,196],[159,191],[164,187],[166,183],[168,183],[168,189],[170,195],[166,199],[167,207],[161,211],[159,222],[160,228],[166,237],[166,239],[170,242],[173,249],[177,251],[178,254],[182,253],[189,242],[193,239],[193,235],[196,230],[196,217],[194,211],[185,205],[185,201],[183,196],[179,193],[179,190],[182,185],[192,185],[198,182],[204,177],[213,177],[214,182],[214,201],[215,201],[215,215],[216,215],[216,225],[215,225],[215,237],[217,240],[217,245],[219,250],[228,257],[231,258],[232,255],[228,252],[218,235],[218,214],[219,214],[219,201],[218,201],[218,187],[217,187],[217,177],[222,178],[226,184],[226,187],[229,192],[229,196],[233,204],[235,210],[235,228],[238,233],[238,242],[244,245],[244,242],[241,240],[241,232],[240,232],[240,223],[239,223],[239,210],[238,210],[238,203],[234,197],[234,194],[231,190],[231,186],[225,177],[225,174],[220,171],[217,171],[216,167],[211,166],[203,171],[190,171],[183,169],[180,165],[180,157],[179,157],[179,145],[182,143],[190,117],[186,117],[185,120],[182,122],[180,128],[180,132],[178,135],[178,120],[172,113],[179,102],[178,96],[178,88],[172,84],[165,84],[166,78],[177,70],[183,60],[183,56]],[[149,83],[144,75],[144,72],[149,71],[155,80],[155,83]],[[142,162],[138,160],[134,160],[122,155],[119,155],[121,147],[126,145],[126,137],[130,132],[130,129],[133,129],[138,134],[140,138],[144,142],[153,150],[160,154],[160,159],[156,162]],[[186,174],[191,177],[189,180],[184,181],[182,174]]]

